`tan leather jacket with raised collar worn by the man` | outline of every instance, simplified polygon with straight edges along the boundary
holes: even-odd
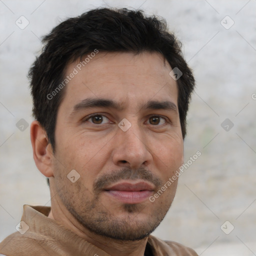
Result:
[[[110,256],[48,218],[49,211],[47,206],[24,205],[19,232],[0,243],[0,253],[6,256]],[[191,248],[152,235],[149,235],[146,247],[153,256],[198,256]]]

